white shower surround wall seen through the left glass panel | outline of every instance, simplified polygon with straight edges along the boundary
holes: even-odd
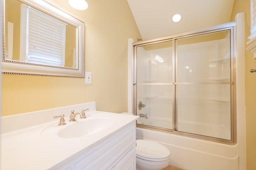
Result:
[[[154,60],[154,54],[160,55],[164,62],[158,63]],[[172,58],[170,57],[172,56],[172,47],[154,50],[140,47],[137,48],[137,55],[140,56],[137,57],[137,103],[142,101],[143,104],[146,104],[146,107],[141,110],[137,108],[137,113],[147,114],[151,120],[153,120],[152,117],[172,119],[172,86],[138,85],[139,83],[172,82]],[[168,129],[172,129],[172,122]]]

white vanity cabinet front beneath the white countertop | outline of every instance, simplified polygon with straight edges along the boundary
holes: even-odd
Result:
[[[74,144],[75,145],[75,144]],[[50,170],[135,170],[136,123],[129,123]]]

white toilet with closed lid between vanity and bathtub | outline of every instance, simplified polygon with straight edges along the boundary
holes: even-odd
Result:
[[[136,140],[136,170],[161,170],[166,168],[169,162],[170,150],[167,147],[154,141]]]

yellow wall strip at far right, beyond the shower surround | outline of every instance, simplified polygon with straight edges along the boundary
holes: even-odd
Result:
[[[235,15],[245,12],[246,21],[246,42],[250,35],[250,0],[235,0],[231,20],[234,21]],[[247,45],[246,45],[247,47]],[[246,97],[246,157],[247,170],[256,170],[256,73],[250,73],[250,69],[256,68],[256,60],[253,54],[245,50],[245,97]],[[238,127],[239,128],[239,127]]]

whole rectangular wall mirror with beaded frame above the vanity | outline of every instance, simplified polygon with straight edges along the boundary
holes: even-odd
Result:
[[[2,73],[84,78],[83,21],[44,0],[2,0]]]

